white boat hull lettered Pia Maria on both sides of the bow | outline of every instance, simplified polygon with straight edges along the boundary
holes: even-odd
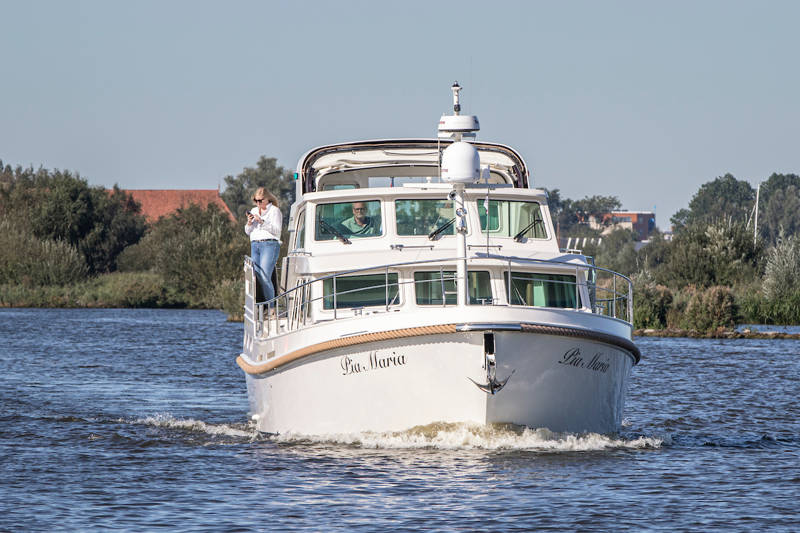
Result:
[[[487,383],[486,334],[367,342],[248,373],[250,411],[268,433],[399,431],[434,422],[619,430],[634,364],[627,350],[591,338],[493,331],[496,378],[511,377],[490,394],[477,386]]]

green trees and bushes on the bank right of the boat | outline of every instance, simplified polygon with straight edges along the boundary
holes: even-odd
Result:
[[[725,174],[675,213],[671,239],[657,231],[639,247],[619,229],[584,252],[633,279],[637,327],[800,324],[800,177],[774,173],[756,192]],[[588,227],[575,232],[600,234]]]

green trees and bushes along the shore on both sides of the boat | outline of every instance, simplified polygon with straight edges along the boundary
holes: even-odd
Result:
[[[210,204],[154,222],[116,185],[90,187],[79,174],[0,160],[0,307],[219,309],[241,321],[250,244],[239,221],[258,187],[280,200],[283,257],[294,180],[273,158],[225,177],[221,197],[237,221]],[[647,243],[627,229],[590,225],[621,207],[616,197],[547,193],[559,234],[586,237],[584,254],[633,280],[635,335],[799,337],[735,330],[800,324],[797,175],[762,183],[757,230],[755,190],[726,174],[672,217],[673,233],[653,228]]]

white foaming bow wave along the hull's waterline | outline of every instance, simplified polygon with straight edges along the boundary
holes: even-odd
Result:
[[[491,426],[436,423],[400,432],[362,432],[353,434],[300,435],[288,433],[271,437],[281,443],[345,444],[376,449],[466,449],[530,450],[545,452],[583,452],[614,449],[656,449],[662,439],[638,436],[599,435],[597,433],[554,433],[514,425]]]

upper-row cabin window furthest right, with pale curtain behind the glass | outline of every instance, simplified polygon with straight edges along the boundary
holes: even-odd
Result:
[[[477,206],[483,233],[488,231],[495,237],[547,238],[542,209],[537,202],[489,200],[488,213],[485,200],[478,200]]]

